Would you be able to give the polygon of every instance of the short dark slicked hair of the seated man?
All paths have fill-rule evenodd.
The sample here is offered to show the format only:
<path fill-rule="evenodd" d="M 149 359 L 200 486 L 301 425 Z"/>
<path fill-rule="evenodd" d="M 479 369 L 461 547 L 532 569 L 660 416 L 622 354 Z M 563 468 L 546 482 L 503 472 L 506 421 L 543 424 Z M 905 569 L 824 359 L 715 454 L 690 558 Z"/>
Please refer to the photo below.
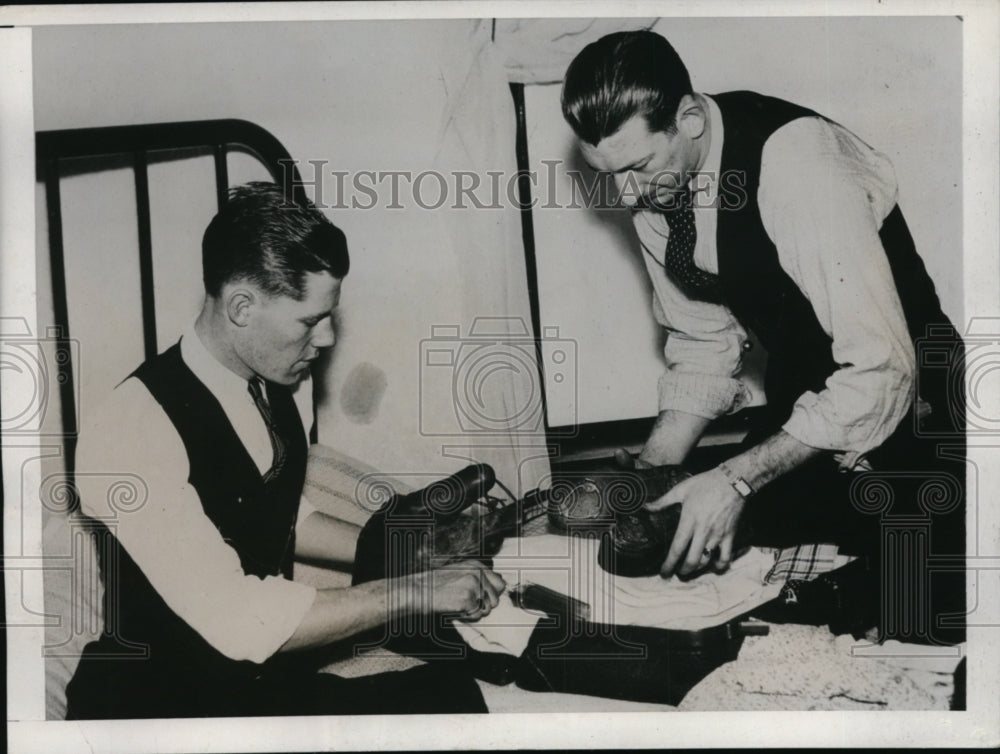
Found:
<path fill-rule="evenodd" d="M 308 199 L 292 201 L 274 183 L 229 190 L 201 242 L 205 292 L 218 296 L 232 280 L 247 280 L 271 296 L 305 295 L 307 272 L 347 275 L 343 232 Z"/>

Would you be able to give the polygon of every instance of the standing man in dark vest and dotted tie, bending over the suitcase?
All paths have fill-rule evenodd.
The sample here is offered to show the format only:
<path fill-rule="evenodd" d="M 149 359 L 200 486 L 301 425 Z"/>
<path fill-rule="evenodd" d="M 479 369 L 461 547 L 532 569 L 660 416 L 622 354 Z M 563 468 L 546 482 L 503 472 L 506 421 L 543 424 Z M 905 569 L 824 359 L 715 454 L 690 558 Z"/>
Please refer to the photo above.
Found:
<path fill-rule="evenodd" d="M 836 542 L 886 565 L 885 532 L 916 517 L 933 537 L 894 567 L 917 569 L 908 578 L 921 586 L 883 610 L 912 615 L 914 640 L 944 636 L 933 619 L 961 621 L 964 605 L 963 351 L 889 161 L 790 102 L 695 92 L 652 32 L 584 48 L 562 107 L 584 158 L 614 176 L 632 212 L 667 332 L 660 412 L 637 462 L 683 462 L 714 418 L 748 402 L 748 330 L 768 353 L 767 407 L 741 452 L 655 504 L 683 504 L 663 574 L 726 567 L 741 519 L 759 544 Z M 944 354 L 933 369 L 917 359 L 925 342 Z M 940 479 L 947 500 L 924 505 L 920 481 Z M 879 480 L 891 511 L 865 499 Z M 950 573 L 930 572 L 928 548 L 951 559 Z"/>

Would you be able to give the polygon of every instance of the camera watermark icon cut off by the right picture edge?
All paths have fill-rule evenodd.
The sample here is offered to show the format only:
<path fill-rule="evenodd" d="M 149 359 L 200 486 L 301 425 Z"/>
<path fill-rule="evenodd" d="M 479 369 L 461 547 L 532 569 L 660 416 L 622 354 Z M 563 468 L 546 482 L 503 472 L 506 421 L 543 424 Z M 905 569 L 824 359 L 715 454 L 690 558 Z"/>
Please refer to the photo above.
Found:
<path fill-rule="evenodd" d="M 914 345 L 917 395 L 931 409 L 915 414 L 916 434 L 963 437 L 967 422 L 970 436 L 1000 435 L 1000 318 L 973 317 L 962 338 L 932 325 Z"/>

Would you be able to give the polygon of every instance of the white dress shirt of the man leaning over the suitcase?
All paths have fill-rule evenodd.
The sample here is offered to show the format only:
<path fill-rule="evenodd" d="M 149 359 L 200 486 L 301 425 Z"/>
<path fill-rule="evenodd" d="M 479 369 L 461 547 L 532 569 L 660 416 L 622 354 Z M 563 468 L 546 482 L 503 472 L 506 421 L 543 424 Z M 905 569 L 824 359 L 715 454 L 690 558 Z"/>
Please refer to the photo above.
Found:
<path fill-rule="evenodd" d="M 695 195 L 694 262 L 718 273 L 725 135 L 718 105 L 705 99 L 711 143 L 692 180 L 692 190 L 704 192 Z M 889 160 L 823 118 L 794 120 L 765 144 L 758 193 L 764 228 L 782 268 L 833 339 L 839 365 L 823 390 L 798 399 L 784 429 L 811 447 L 846 451 L 846 465 L 884 442 L 913 400 L 913 344 L 878 236 L 896 194 Z M 725 306 L 688 298 L 650 258 L 662 261 L 666 249 L 670 231 L 662 214 L 636 212 L 633 223 L 648 252 L 643 258 L 653 283 L 654 316 L 668 331 L 660 410 L 706 418 L 739 410 L 751 398 L 739 379 L 746 331 Z"/>

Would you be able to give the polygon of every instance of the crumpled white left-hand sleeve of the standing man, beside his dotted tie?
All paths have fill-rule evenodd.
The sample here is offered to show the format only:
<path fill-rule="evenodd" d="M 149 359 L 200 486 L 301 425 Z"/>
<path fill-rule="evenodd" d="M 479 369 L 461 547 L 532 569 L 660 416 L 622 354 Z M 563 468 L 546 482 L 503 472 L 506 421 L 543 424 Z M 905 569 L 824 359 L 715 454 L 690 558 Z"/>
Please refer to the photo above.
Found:
<path fill-rule="evenodd" d="M 659 410 L 707 419 L 739 410 L 751 398 L 739 379 L 746 331 L 725 306 L 688 298 L 653 261 L 663 256 L 665 223 L 658 228 L 640 212 L 634 225 L 653 283 L 653 316 L 666 332 Z"/>

